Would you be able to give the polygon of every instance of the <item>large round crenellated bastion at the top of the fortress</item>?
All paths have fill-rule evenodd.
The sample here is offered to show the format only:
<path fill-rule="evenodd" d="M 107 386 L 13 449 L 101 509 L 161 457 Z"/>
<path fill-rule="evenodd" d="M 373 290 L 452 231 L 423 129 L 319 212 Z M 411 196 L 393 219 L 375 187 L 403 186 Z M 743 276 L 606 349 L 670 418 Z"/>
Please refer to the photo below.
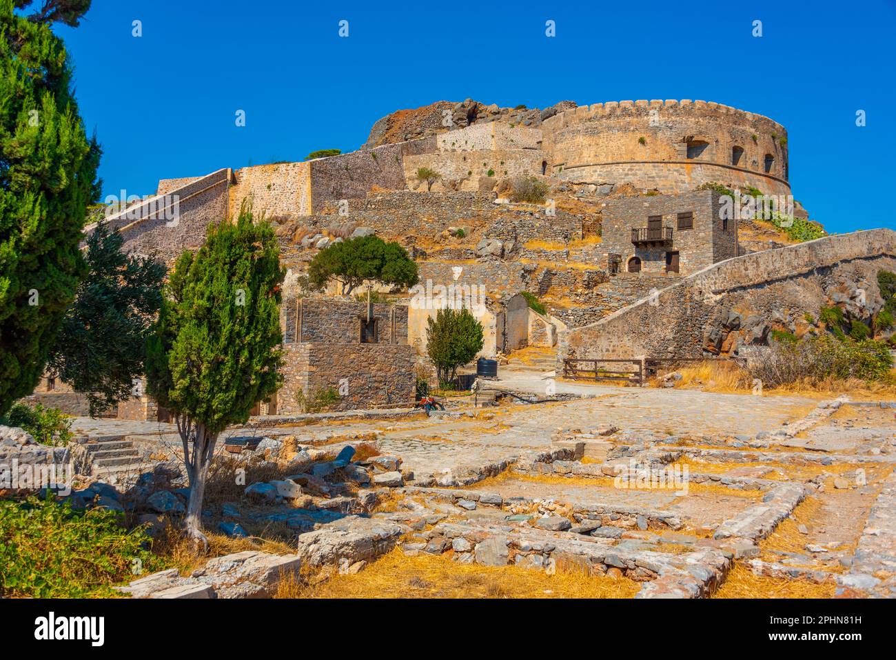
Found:
<path fill-rule="evenodd" d="M 652 126 L 651 126 L 652 124 Z M 664 177 L 664 169 L 645 167 L 653 162 L 690 161 L 732 165 L 732 148 L 744 153 L 737 169 L 728 169 L 728 177 L 744 185 L 757 185 L 762 192 L 771 187 L 787 187 L 787 131 L 777 122 L 718 103 L 691 100 L 646 100 L 597 103 L 566 110 L 547 118 L 541 125 L 543 148 L 550 156 L 550 165 L 561 178 L 593 182 L 616 182 L 616 178 L 636 183 L 643 176 L 642 187 L 659 187 L 664 192 L 693 187 L 705 180 L 719 181 L 721 169 L 704 168 L 691 171 L 676 168 Z M 774 137 L 772 137 L 774 135 Z M 755 140 L 754 140 L 755 136 Z M 644 143 L 639 143 L 639 138 Z M 784 138 L 784 143 L 781 143 Z M 695 159 L 687 158 L 687 140 L 708 143 Z M 775 184 L 763 177 L 765 154 L 771 154 Z M 620 169 L 620 164 L 632 167 Z M 662 166 L 668 167 L 668 166 Z M 693 167 L 693 166 L 691 166 Z M 562 168 L 562 169 L 561 169 Z M 607 169 L 608 168 L 608 169 Z"/>

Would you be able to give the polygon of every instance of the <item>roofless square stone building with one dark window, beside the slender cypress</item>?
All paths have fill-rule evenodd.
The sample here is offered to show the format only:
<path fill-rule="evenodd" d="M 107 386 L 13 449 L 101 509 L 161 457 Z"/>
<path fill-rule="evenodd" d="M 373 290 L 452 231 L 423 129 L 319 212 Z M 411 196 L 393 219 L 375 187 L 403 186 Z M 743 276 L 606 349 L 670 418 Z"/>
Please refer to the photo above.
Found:
<path fill-rule="evenodd" d="M 328 390 L 338 410 L 408 403 L 416 355 L 408 343 L 408 308 L 334 299 L 284 300 L 284 383 L 261 406 L 269 414 L 304 412 Z"/>

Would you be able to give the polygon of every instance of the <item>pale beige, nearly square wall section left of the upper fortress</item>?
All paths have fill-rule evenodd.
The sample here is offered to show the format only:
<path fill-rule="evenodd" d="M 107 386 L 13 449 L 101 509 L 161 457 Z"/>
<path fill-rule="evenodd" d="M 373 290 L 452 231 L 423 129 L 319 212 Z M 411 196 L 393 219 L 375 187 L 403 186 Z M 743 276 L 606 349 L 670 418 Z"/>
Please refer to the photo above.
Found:
<path fill-rule="evenodd" d="M 311 213 L 311 164 L 272 163 L 237 169 L 230 190 L 230 216 L 236 218 L 244 199 L 252 198 L 254 213 L 307 215 Z"/>

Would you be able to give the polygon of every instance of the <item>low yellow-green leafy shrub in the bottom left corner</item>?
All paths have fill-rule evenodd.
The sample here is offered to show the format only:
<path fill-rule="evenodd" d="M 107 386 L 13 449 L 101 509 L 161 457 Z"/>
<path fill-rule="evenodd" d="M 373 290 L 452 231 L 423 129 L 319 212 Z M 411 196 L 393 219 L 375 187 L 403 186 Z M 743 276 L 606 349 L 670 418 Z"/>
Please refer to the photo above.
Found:
<path fill-rule="evenodd" d="M 0 597 L 114 596 L 113 585 L 167 568 L 148 543 L 116 511 L 73 511 L 52 495 L 0 499 Z"/>

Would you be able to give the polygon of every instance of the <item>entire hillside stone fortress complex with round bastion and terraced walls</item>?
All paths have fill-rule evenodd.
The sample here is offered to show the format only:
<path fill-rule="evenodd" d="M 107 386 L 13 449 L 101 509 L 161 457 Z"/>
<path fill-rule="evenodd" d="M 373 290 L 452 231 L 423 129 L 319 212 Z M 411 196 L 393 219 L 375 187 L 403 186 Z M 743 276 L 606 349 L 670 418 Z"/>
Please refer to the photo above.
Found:
<path fill-rule="evenodd" d="M 419 177 L 421 169 L 435 177 Z M 513 188 L 521 178 L 546 183 L 547 200 L 514 202 Z M 256 216 L 263 213 L 275 226 L 288 283 L 332 242 L 375 233 L 408 248 L 421 285 L 485 288 L 486 304 L 476 310 L 486 331 L 484 356 L 539 346 L 556 349 L 562 367 L 564 357 L 631 358 L 643 355 L 645 346 L 656 351 L 658 342 L 645 335 L 657 323 L 675 335 L 674 324 L 653 317 L 654 325 L 646 327 L 612 321 L 614 333 L 626 334 L 622 339 L 607 339 L 601 324 L 697 274 L 705 280 L 708 271 L 728 264 L 727 277 L 737 282 L 737 273 L 744 273 L 757 291 L 780 279 L 781 260 L 798 246 L 788 247 L 790 241 L 771 225 L 722 218 L 719 192 L 708 184 L 789 195 L 785 128 L 768 117 L 702 100 L 590 106 L 563 101 L 542 110 L 439 101 L 383 117 L 355 152 L 163 179 L 155 197 L 108 221 L 122 231 L 126 249 L 170 264 L 181 250 L 202 243 L 210 222 L 236 217 L 244 200 L 251 200 Z M 799 204 L 794 214 L 807 217 Z M 893 265 L 892 232 L 853 236 L 858 238 L 847 242 L 821 239 L 827 241 L 823 249 L 812 254 L 823 261 L 793 272 L 793 277 L 822 278 L 814 282 L 805 309 L 798 295 L 789 296 L 787 309 L 754 305 L 749 295 L 732 309 L 721 300 L 724 294 L 713 298 L 697 291 L 690 297 L 709 302 L 682 321 L 686 341 L 668 345 L 681 346 L 688 356 L 737 352 L 764 342 L 773 324 L 763 321 L 758 335 L 735 332 L 728 339 L 733 329 L 721 326 L 732 312 L 750 317 L 753 307 L 762 307 L 763 314 L 777 313 L 781 327 L 797 330 L 805 312 L 817 312 L 819 301 L 835 289 L 849 299 L 857 282 L 872 292 L 867 304 L 876 304 L 871 273 L 883 262 Z M 839 269 L 841 247 L 849 269 Z M 769 248 L 785 255 L 762 256 Z M 853 263 L 865 258 L 859 253 L 874 265 Z M 824 267 L 832 270 L 822 273 Z M 523 291 L 537 297 L 547 313 L 529 308 Z M 409 304 L 408 292 L 381 293 L 395 304 L 377 312 L 382 318 L 376 327 L 367 326 L 373 322 L 366 305 L 350 298 L 333 313 L 347 314 L 351 323 L 325 339 L 297 331 L 309 323 L 303 314 L 314 308 L 314 300 L 299 300 L 300 291 L 285 288 L 283 324 L 292 328 L 286 333 L 289 395 L 263 402 L 268 412 L 297 412 L 298 390 L 310 395 L 314 386 L 336 386 L 345 378 L 349 391 L 360 393 L 346 405 L 409 400 L 411 367 L 415 360 L 425 362 L 426 318 L 435 309 Z M 314 315 L 329 308 L 336 309 L 318 306 Z M 398 322 L 395 308 L 401 308 Z M 396 323 L 400 332 L 389 330 L 384 337 Z M 362 353 L 363 368 L 351 367 Z M 332 355 L 341 366 L 328 358 Z M 395 365 L 402 366 L 401 378 Z M 392 376 L 375 376 L 382 373 Z"/>

